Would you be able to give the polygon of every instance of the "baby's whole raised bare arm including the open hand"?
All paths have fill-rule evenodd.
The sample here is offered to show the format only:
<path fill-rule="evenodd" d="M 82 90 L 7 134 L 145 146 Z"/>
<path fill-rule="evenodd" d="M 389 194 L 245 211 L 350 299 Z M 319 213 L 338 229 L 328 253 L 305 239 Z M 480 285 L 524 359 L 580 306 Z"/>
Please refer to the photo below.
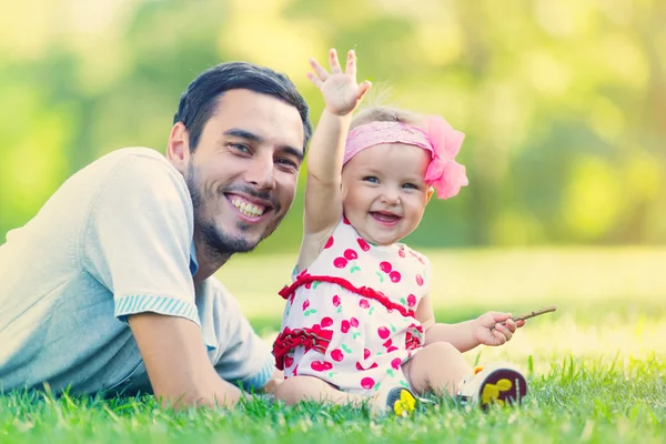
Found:
<path fill-rule="evenodd" d="M 352 112 L 370 88 L 367 81 L 356 83 L 354 51 L 347 54 L 345 72 L 342 72 L 333 49 L 329 52 L 329 62 L 330 73 L 312 59 L 310 63 L 315 73 L 307 74 L 312 83 L 322 91 L 326 107 L 307 154 L 305 215 L 299 270 L 307 268 L 314 261 L 331 230 L 342 218 L 340 188 L 345 138 Z"/>

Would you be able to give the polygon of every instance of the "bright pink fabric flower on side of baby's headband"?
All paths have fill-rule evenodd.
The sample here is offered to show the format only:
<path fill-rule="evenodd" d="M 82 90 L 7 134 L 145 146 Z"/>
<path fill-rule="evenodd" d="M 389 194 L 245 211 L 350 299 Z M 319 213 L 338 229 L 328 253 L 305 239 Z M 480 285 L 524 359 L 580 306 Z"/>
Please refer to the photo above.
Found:
<path fill-rule="evenodd" d="M 437 190 L 437 199 L 453 198 L 470 183 L 465 167 L 455 161 L 465 134 L 440 115 L 428 117 L 426 124 L 433 158 L 425 171 L 425 181 Z"/>

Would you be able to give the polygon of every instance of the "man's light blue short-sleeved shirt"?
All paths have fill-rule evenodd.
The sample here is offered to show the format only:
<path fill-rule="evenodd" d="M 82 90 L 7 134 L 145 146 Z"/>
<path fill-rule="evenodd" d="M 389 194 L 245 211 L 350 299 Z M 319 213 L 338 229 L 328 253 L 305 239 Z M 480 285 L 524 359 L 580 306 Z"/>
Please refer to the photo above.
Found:
<path fill-rule="evenodd" d="M 0 392 L 151 392 L 127 316 L 200 325 L 221 377 L 262 387 L 270 346 L 215 279 L 193 284 L 193 208 L 157 151 L 128 148 L 72 175 L 0 246 Z"/>

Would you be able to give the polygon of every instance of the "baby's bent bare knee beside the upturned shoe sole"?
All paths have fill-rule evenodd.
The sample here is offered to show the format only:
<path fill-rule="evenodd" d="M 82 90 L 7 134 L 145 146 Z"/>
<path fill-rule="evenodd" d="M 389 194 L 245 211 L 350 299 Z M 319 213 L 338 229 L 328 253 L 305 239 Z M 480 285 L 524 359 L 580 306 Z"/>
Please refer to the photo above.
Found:
<path fill-rule="evenodd" d="M 416 393 L 434 392 L 455 395 L 458 384 L 473 373 L 463 354 L 447 342 L 433 342 L 418 351 L 403 366 Z"/>

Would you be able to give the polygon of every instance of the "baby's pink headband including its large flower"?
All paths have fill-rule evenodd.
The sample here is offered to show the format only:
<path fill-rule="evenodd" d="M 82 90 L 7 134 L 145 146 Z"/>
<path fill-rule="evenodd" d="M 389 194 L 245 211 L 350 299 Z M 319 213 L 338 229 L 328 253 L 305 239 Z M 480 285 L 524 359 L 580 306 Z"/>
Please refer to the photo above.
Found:
<path fill-rule="evenodd" d="M 437 190 L 437 199 L 453 198 L 468 184 L 465 167 L 454 159 L 465 134 L 454 130 L 440 115 L 430 115 L 427 130 L 401 122 L 371 122 L 354 128 L 346 139 L 343 164 L 366 148 L 381 143 L 404 143 L 431 152 L 425 182 Z"/>

